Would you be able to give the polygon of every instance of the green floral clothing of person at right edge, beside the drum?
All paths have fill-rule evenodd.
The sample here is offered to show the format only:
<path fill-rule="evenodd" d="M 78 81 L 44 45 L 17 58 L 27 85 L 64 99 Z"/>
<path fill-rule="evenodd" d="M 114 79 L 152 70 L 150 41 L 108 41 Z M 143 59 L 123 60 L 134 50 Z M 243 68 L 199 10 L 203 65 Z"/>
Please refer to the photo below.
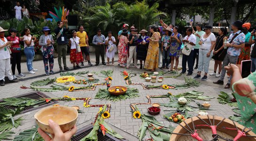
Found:
<path fill-rule="evenodd" d="M 256 86 L 256 72 L 251 73 L 247 78 Z M 241 110 L 239 124 L 252 129 L 252 132 L 256 133 L 256 104 L 252 102 L 250 98 L 237 94 L 234 90 L 234 85 L 232 86 L 232 90 L 235 94 L 238 107 Z M 254 90 L 254 92 L 256 92 L 256 90 Z"/>

